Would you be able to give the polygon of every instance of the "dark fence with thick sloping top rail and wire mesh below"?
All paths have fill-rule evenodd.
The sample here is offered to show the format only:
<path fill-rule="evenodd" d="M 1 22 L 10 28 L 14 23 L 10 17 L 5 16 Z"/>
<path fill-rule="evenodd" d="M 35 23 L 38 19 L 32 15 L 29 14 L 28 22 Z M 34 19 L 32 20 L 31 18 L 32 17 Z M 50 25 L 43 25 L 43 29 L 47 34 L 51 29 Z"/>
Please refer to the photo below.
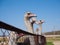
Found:
<path fill-rule="evenodd" d="M 30 45 L 31 36 L 34 37 L 35 45 L 46 45 L 44 36 L 23 31 L 0 21 L 0 45 Z M 39 37 L 41 43 L 39 43 Z"/>

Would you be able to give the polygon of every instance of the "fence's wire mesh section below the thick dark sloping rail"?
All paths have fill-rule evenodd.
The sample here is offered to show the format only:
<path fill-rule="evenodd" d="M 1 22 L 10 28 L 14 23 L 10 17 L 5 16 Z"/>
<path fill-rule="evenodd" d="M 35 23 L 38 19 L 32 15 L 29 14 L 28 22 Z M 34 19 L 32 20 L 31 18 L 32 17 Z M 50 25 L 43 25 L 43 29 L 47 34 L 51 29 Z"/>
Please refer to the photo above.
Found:
<path fill-rule="evenodd" d="M 29 37 L 31 37 L 31 35 L 23 35 L 23 33 L 17 34 L 17 32 L 0 28 L 0 45 L 30 45 Z M 38 36 L 33 37 L 36 45 L 45 45 L 45 37 L 41 37 L 43 44 L 38 43 Z"/>

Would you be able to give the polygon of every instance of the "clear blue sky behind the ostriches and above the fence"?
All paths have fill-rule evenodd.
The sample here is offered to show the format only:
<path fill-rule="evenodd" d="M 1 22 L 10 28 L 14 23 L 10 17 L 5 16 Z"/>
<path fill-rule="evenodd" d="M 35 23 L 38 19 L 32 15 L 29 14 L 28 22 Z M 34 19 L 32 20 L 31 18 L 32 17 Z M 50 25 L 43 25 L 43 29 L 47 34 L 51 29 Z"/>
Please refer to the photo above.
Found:
<path fill-rule="evenodd" d="M 0 0 L 0 21 L 25 31 L 24 14 L 28 11 L 44 20 L 42 32 L 60 30 L 60 0 Z"/>

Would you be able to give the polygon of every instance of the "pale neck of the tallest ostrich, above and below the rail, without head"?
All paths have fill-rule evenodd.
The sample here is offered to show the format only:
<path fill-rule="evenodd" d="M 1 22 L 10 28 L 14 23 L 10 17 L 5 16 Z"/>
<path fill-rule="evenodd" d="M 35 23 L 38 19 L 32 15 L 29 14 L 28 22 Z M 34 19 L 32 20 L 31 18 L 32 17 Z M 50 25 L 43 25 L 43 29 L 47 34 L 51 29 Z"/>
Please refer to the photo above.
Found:
<path fill-rule="evenodd" d="M 33 26 L 32 26 L 32 24 L 30 22 L 30 19 L 27 18 L 27 17 L 24 17 L 24 22 L 25 22 L 27 31 L 30 32 L 30 33 L 34 33 L 33 32 Z M 29 36 L 29 40 L 30 40 L 30 45 L 35 45 L 35 41 L 34 41 L 34 37 L 33 36 Z"/>

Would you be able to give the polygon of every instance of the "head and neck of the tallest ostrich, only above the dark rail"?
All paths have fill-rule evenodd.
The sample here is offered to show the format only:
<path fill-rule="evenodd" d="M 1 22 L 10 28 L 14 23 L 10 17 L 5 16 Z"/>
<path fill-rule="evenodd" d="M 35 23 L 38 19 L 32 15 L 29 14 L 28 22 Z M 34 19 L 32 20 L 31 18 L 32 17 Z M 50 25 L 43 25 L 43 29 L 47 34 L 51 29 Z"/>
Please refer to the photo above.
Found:
<path fill-rule="evenodd" d="M 34 21 L 32 21 L 32 22 L 30 21 L 30 19 L 32 17 L 36 17 L 36 15 L 34 15 L 30 12 L 27 12 L 24 16 L 25 25 L 27 27 L 28 32 L 30 32 L 30 33 L 33 33 L 33 23 L 34 23 Z"/>

